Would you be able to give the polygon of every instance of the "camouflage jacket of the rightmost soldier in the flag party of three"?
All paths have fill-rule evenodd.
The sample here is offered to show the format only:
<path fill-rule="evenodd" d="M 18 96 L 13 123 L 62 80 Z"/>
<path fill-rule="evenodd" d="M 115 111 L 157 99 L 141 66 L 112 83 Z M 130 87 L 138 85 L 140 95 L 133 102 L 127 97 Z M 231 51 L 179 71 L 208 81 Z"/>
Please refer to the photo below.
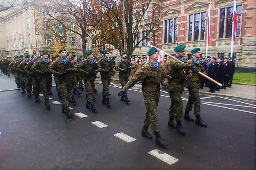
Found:
<path fill-rule="evenodd" d="M 201 63 L 197 63 L 195 60 L 192 58 L 188 61 L 188 63 L 195 65 L 195 67 L 198 68 L 199 72 L 202 72 L 206 74 L 204 67 Z M 192 70 L 189 68 L 187 69 L 187 76 L 190 77 L 190 81 L 186 82 L 186 87 L 187 88 L 200 88 L 200 75 L 199 73 L 194 73 Z"/>

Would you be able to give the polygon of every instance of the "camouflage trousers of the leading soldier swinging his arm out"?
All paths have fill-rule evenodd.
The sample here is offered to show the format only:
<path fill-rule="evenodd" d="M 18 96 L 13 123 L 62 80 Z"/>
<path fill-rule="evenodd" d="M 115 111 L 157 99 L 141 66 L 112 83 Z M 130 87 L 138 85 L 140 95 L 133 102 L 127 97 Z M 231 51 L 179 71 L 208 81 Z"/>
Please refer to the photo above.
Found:
<path fill-rule="evenodd" d="M 159 103 L 158 98 L 148 98 L 144 96 L 144 103 L 147 109 L 144 125 L 149 126 L 151 125 L 151 128 L 153 132 L 159 131 L 159 125 L 158 125 L 158 113 L 157 113 L 157 106 Z"/>

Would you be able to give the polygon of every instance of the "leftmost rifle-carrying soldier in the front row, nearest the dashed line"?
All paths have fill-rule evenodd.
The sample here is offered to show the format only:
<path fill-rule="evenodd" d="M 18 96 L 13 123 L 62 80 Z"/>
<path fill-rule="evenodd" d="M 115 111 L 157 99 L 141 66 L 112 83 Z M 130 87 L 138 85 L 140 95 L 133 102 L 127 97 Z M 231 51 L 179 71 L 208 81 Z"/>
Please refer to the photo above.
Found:
<path fill-rule="evenodd" d="M 57 75 L 56 79 L 59 84 L 59 92 L 62 96 L 62 113 L 66 113 L 68 118 L 73 118 L 74 115 L 69 109 L 68 95 L 72 90 L 70 75 L 73 71 L 77 71 L 77 68 L 74 63 L 68 63 L 67 51 L 65 48 L 61 48 L 61 50 L 59 50 L 59 55 L 60 58 L 50 65 L 49 71 L 52 74 Z M 83 71 L 82 73 L 86 72 Z"/>

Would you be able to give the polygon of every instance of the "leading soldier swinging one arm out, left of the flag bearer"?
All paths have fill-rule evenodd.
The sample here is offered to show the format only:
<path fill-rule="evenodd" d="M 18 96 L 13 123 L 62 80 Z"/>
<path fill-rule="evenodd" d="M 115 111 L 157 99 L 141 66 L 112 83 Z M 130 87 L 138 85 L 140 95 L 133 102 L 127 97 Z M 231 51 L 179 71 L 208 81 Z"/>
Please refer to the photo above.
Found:
<path fill-rule="evenodd" d="M 168 79 L 163 67 L 157 62 L 158 53 L 155 47 L 148 50 L 148 56 L 150 62 L 143 65 L 135 75 L 131 77 L 129 82 L 123 87 L 123 90 L 118 93 L 118 96 L 125 95 L 128 88 L 133 87 L 135 83 L 143 80 L 142 94 L 147 112 L 141 135 L 152 139 L 152 135 L 148 133 L 148 126 L 151 125 L 153 133 L 156 136 L 157 145 L 165 147 L 167 146 L 167 143 L 163 141 L 159 133 L 157 106 L 160 98 L 160 83 L 166 88 Z"/>

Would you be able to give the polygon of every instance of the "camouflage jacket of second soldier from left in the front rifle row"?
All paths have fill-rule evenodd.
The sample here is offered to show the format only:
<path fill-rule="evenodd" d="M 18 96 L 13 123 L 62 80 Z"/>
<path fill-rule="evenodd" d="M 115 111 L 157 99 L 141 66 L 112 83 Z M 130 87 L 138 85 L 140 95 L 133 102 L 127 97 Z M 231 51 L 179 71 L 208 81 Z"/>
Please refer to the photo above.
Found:
<path fill-rule="evenodd" d="M 86 71 L 86 73 L 88 73 L 95 64 L 95 60 L 93 61 L 93 63 L 91 63 L 89 59 L 86 58 L 77 67 L 81 68 L 82 70 Z M 103 71 L 103 69 L 98 64 L 95 71 L 98 73 Z M 95 75 L 84 75 L 84 78 L 86 78 L 86 80 L 88 81 L 94 81 Z"/>

